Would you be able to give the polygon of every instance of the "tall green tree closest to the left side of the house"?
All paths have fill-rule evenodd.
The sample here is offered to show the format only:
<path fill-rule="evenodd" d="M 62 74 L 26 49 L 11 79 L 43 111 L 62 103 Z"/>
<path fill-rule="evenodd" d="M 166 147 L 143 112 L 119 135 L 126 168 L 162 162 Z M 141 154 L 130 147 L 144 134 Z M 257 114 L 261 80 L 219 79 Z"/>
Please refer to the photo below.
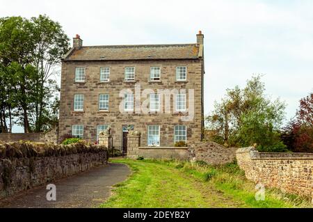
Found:
<path fill-rule="evenodd" d="M 47 122 L 55 116 L 49 116 L 52 104 L 56 102 L 58 86 L 51 76 L 59 72 L 61 58 L 69 50 L 69 38 L 58 22 L 54 22 L 46 15 L 32 17 L 33 65 L 37 70 L 35 81 L 35 132 L 47 130 Z"/>

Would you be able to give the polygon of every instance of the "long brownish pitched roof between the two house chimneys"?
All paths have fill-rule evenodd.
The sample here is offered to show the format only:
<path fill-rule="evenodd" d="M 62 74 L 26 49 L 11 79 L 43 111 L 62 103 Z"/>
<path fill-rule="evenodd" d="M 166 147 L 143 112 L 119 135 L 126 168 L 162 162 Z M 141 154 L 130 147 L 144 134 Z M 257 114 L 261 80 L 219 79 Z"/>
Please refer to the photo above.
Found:
<path fill-rule="evenodd" d="M 65 61 L 127 61 L 154 59 L 198 59 L 202 45 L 105 45 L 71 49 Z"/>

